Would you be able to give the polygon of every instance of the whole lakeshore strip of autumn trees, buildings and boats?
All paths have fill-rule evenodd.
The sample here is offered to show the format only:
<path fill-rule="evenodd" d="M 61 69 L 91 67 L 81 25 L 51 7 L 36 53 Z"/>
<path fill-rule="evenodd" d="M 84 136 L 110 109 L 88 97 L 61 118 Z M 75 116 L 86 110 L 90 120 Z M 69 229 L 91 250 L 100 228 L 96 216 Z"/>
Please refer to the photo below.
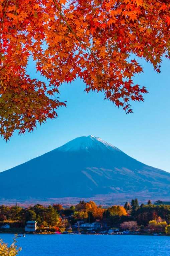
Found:
<path fill-rule="evenodd" d="M 28 208 L 0 206 L 0 233 L 170 235 L 170 202 L 150 200 L 139 205 L 137 198 L 124 206 L 97 206 L 80 201 L 63 208 L 61 204 Z M 21 235 L 22 234 L 22 235 Z"/>

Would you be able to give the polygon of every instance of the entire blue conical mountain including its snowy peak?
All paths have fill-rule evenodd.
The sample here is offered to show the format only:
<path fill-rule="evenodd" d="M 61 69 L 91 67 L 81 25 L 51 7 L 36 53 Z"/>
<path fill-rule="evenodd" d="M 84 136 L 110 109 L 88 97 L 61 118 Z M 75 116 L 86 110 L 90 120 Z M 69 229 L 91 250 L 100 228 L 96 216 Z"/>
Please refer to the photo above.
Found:
<path fill-rule="evenodd" d="M 136 161 L 94 136 L 76 138 L 0 173 L 0 198 L 6 199 L 94 195 L 166 199 L 169 192 L 170 173 Z"/>

